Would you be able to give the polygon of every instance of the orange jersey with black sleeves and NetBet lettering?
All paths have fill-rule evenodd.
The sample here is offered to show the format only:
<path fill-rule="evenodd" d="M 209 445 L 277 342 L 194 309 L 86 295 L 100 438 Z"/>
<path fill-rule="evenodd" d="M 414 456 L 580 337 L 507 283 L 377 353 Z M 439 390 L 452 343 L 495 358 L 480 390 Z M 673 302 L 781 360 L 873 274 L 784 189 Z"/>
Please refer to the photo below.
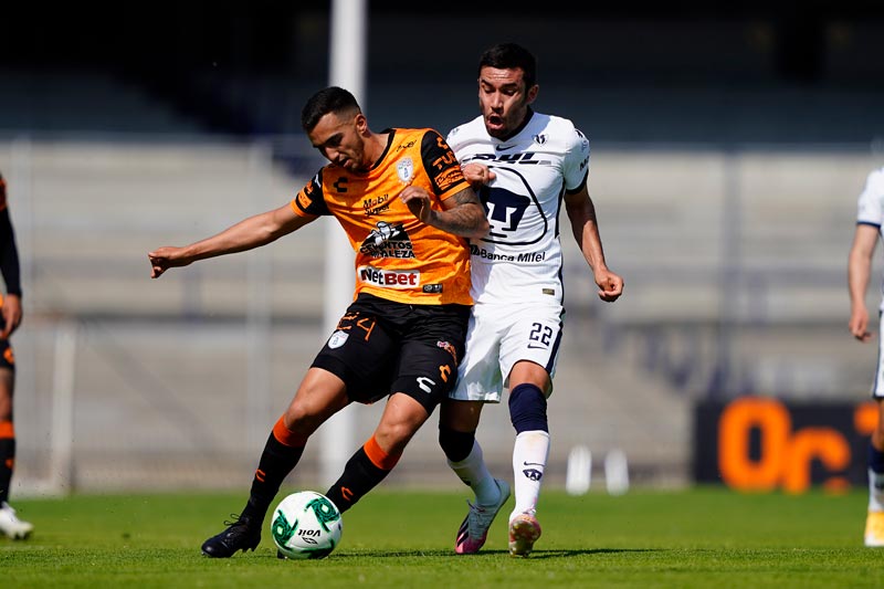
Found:
<path fill-rule="evenodd" d="M 432 129 L 387 129 L 367 173 L 330 164 L 292 200 L 302 217 L 334 214 L 356 252 L 356 293 L 409 304 L 472 305 L 466 240 L 419 221 L 399 200 L 410 180 L 434 210 L 469 188 L 445 140 Z"/>

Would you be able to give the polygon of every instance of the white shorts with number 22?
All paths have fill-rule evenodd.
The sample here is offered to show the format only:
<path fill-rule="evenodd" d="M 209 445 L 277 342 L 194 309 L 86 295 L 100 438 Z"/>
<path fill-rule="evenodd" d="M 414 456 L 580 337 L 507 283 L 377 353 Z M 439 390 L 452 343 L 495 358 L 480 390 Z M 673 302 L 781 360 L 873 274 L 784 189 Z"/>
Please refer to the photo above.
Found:
<path fill-rule="evenodd" d="M 546 368 L 550 382 L 561 344 L 561 305 L 475 305 L 466 332 L 466 355 L 449 398 L 501 402 L 509 371 L 520 360 Z"/>

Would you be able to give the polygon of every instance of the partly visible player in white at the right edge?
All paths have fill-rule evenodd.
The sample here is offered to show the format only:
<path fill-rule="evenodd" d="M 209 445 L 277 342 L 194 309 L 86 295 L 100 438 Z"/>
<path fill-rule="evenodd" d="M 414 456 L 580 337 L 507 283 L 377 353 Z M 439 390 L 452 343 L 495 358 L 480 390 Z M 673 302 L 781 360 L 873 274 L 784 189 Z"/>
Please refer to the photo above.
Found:
<path fill-rule="evenodd" d="M 884 168 L 869 175 L 865 189 L 860 193 L 856 231 L 848 259 L 848 287 L 850 290 L 850 332 L 857 340 L 872 340 L 869 330 L 869 309 L 865 293 L 872 274 L 872 256 L 884 225 Z M 884 311 L 882 301 L 878 313 Z M 884 546 L 884 346 L 878 345 L 877 370 L 872 385 L 872 397 L 877 401 L 878 419 L 869 444 L 869 514 L 865 519 L 865 545 Z"/>

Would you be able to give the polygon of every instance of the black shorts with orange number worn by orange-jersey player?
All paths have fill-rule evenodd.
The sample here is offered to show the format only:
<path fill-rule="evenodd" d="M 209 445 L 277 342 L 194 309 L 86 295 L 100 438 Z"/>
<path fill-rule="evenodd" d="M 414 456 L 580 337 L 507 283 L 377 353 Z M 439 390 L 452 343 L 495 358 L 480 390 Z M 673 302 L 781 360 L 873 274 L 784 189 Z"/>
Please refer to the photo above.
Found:
<path fill-rule="evenodd" d="M 403 392 L 432 413 L 457 380 L 469 318 L 467 305 L 408 305 L 360 294 L 312 366 L 340 377 L 351 401 Z"/>

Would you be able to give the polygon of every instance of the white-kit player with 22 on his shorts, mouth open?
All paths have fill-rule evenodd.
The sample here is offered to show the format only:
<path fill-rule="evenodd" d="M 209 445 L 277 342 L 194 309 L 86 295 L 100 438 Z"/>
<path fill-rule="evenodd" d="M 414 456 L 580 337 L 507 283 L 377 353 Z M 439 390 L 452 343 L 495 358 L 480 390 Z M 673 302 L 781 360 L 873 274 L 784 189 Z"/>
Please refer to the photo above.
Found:
<path fill-rule="evenodd" d="M 499 402 L 504 387 L 516 430 L 509 553 L 527 556 L 540 537 L 536 508 L 549 453 L 546 403 L 564 316 L 562 201 L 601 299 L 615 301 L 623 291 L 623 280 L 606 265 L 587 189 L 589 141 L 570 120 L 532 109 L 538 90 L 530 52 L 512 43 L 491 48 L 478 64 L 481 116 L 448 136 L 491 224 L 485 238 L 471 240 L 475 303 L 466 356 L 439 425 L 449 465 L 475 493 L 457 532 L 457 554 L 478 551 L 509 497 L 508 484 L 490 474 L 475 440 L 484 403 Z"/>

